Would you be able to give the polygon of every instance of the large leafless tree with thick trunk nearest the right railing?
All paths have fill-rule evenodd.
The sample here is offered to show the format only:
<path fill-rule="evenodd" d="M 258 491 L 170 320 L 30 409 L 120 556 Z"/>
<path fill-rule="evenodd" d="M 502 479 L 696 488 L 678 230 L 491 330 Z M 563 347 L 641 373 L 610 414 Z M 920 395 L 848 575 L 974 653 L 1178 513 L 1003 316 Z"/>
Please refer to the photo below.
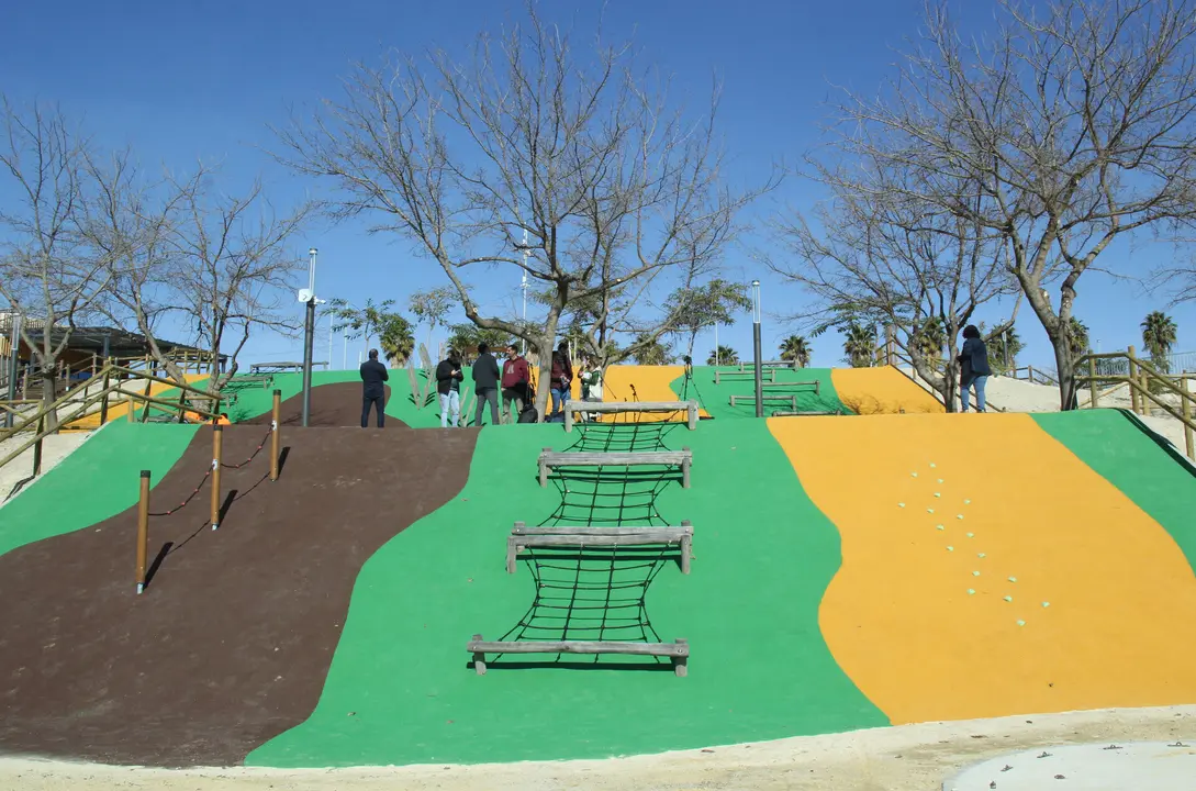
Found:
<path fill-rule="evenodd" d="M 1196 218 L 1194 37 L 1196 14 L 1173 0 L 1001 0 L 981 39 L 930 5 L 881 95 L 847 92 L 841 105 L 843 147 L 909 171 L 911 197 L 1008 238 L 1064 409 L 1080 276 L 1116 238 Z"/>

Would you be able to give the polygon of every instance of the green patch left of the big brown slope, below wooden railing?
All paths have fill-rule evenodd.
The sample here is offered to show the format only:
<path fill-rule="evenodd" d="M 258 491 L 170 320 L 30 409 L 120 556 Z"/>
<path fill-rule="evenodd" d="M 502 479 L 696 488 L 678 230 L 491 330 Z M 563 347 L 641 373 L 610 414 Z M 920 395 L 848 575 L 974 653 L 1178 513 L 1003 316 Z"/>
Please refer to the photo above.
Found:
<path fill-rule="evenodd" d="M 199 426 L 114 422 L 0 509 L 0 555 L 81 530 L 138 501 L 140 471 L 160 481 Z M 132 529 L 132 525 L 130 525 Z"/>

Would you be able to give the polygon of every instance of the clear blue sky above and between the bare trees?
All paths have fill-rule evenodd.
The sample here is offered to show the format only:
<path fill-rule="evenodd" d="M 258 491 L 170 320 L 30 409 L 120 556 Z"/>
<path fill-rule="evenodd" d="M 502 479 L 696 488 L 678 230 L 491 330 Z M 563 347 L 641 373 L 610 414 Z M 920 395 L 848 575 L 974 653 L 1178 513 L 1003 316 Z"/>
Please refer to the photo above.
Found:
<path fill-rule="evenodd" d="M 593 30 L 599 7 L 541 2 L 545 18 L 573 23 L 579 35 Z M 983 1 L 964 7 L 970 24 L 983 24 L 991 13 Z M 273 201 L 286 206 L 319 189 L 263 151 L 273 145 L 268 124 L 283 122 L 288 107 L 335 96 L 354 61 L 376 61 L 390 48 L 460 51 L 477 31 L 517 20 L 523 8 L 519 0 L 13 2 L 4 13 L 0 91 L 18 102 L 60 103 L 102 144 L 132 145 L 146 166 L 185 170 L 197 159 L 222 162 L 228 189 L 261 175 Z M 920 8 L 921 0 L 610 0 L 604 29 L 610 38 L 634 34 L 643 56 L 672 74 L 676 87 L 696 103 L 706 97 L 712 75 L 724 80 L 720 121 L 732 159 L 728 176 L 750 183 L 767 175 L 773 162 L 795 163 L 818 145 L 832 84 L 868 90 L 880 83 L 895 61 L 893 48 L 916 32 Z M 817 195 L 811 183 L 789 180 L 752 209 L 751 219 L 762 221 L 786 206 L 808 208 Z M 439 270 L 414 258 L 405 239 L 367 236 L 365 225 L 319 224 L 297 241 L 297 252 L 311 245 L 321 250 L 321 296 L 405 304 L 411 292 L 443 285 Z M 786 312 L 801 296 L 753 263 L 751 249 L 761 244 L 762 238 L 746 238 L 730 250 L 728 276 L 758 276 L 765 312 Z M 1145 274 L 1165 255 L 1171 251 L 1160 245 L 1131 250 L 1118 243 L 1103 261 Z M 511 273 L 509 280 L 494 282 L 495 302 L 515 298 L 518 275 Z M 1094 345 L 1109 351 L 1141 346 L 1142 316 L 1165 302 L 1131 282 L 1088 273 L 1080 281 L 1076 314 L 1091 328 Z M 297 315 L 300 310 L 295 305 Z M 1196 347 L 1196 306 L 1168 312 L 1179 324 L 1177 351 Z M 1000 314 L 982 317 L 994 321 Z M 720 342 L 750 354 L 749 322 L 745 316 L 724 328 Z M 1023 364 L 1049 365 L 1050 347 L 1037 321 L 1023 312 L 1018 328 L 1027 342 Z M 765 354 L 788 331 L 765 316 Z M 696 354 L 704 358 L 712 342 L 709 335 L 700 339 Z M 840 342 L 837 335 L 814 341 L 814 364 L 838 364 Z M 338 366 L 338 337 L 332 347 Z M 242 359 L 299 359 L 299 348 L 298 341 L 261 336 Z M 325 323 L 316 357 L 327 354 Z M 355 361 L 354 349 L 349 363 Z"/>

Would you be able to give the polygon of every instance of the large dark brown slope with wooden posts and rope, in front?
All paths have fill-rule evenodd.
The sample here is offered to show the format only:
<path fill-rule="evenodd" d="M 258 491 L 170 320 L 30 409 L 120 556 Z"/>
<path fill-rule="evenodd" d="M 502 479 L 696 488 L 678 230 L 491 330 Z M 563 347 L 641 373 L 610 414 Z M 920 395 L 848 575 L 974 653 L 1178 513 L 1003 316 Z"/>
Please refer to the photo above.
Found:
<path fill-rule="evenodd" d="M 246 458 L 261 426 L 225 428 Z M 0 750 L 152 766 L 237 763 L 313 710 L 361 565 L 465 483 L 477 433 L 292 428 L 225 470 L 218 531 L 205 488 L 151 521 L 172 544 L 140 597 L 135 510 L 0 556 Z M 153 491 L 178 505 L 210 464 L 203 428 Z M 268 445 L 267 445 L 268 448 Z M 264 477 L 264 480 L 263 480 Z"/>

